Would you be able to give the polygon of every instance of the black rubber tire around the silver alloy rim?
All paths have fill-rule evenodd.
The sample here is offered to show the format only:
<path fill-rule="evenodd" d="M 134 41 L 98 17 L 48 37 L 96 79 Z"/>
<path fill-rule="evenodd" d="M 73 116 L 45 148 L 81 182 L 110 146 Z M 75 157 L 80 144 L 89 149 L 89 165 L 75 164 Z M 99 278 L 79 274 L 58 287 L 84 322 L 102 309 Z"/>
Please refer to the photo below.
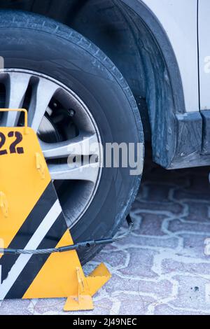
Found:
<path fill-rule="evenodd" d="M 1 10 L 0 55 L 5 68 L 44 73 L 76 92 L 90 109 L 102 144 L 144 142 L 130 87 L 111 60 L 76 31 L 41 15 Z M 141 176 L 130 176 L 130 168 L 104 168 L 92 204 L 71 228 L 74 241 L 113 236 L 130 212 L 140 181 Z M 81 251 L 80 260 L 87 262 L 100 248 Z"/>

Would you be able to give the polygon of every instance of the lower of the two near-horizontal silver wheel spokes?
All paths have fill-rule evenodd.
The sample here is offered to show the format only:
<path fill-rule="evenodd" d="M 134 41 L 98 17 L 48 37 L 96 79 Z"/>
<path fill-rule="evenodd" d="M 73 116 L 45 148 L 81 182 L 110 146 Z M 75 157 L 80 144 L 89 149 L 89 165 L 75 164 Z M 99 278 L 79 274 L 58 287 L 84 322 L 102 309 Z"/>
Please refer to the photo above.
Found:
<path fill-rule="evenodd" d="M 48 165 L 53 180 L 97 181 L 99 163 L 83 164 L 74 162 L 72 165 Z"/>

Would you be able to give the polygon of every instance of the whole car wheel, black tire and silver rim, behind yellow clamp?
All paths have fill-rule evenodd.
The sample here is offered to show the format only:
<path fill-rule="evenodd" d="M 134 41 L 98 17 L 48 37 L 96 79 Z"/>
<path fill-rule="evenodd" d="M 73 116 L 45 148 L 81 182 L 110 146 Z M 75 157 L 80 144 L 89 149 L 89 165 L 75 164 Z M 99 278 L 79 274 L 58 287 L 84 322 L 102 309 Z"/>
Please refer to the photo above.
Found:
<path fill-rule="evenodd" d="M 138 148 L 144 141 L 130 88 L 96 45 L 54 20 L 2 10 L 0 29 L 0 105 L 27 109 L 74 241 L 113 236 L 130 211 L 141 172 L 132 176 L 130 167 L 99 163 L 106 144 Z M 3 125 L 22 125 L 22 116 L 3 113 Z M 90 154 L 86 144 L 99 147 Z M 87 262 L 99 248 L 80 251 L 80 259 Z"/>

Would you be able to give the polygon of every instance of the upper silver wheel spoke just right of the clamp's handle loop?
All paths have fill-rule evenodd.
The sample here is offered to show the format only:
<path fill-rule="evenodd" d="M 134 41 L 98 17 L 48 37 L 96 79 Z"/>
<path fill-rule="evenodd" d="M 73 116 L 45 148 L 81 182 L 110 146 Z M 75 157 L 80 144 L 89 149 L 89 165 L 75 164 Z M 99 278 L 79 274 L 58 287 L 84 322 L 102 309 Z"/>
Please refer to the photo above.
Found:
<path fill-rule="evenodd" d="M 35 132 L 38 131 L 50 100 L 58 89 L 59 87 L 55 83 L 48 80 L 38 80 L 38 83 L 34 85 L 29 106 L 29 125 Z"/>

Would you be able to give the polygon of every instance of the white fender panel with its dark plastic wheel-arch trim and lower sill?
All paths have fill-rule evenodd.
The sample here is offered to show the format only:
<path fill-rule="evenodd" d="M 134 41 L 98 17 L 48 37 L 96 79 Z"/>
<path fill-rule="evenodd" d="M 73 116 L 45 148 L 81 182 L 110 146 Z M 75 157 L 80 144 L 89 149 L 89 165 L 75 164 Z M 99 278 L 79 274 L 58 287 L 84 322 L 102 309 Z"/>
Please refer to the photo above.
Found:
<path fill-rule="evenodd" d="M 161 109 L 153 106 L 148 109 L 158 118 L 155 126 L 151 125 L 154 162 L 166 169 L 209 165 L 207 132 L 210 120 L 206 118 L 204 122 L 200 112 L 198 1 L 122 1 L 139 15 L 153 34 L 169 74 L 172 93 L 167 93 Z M 172 99 L 171 104 L 167 104 L 167 99 Z M 163 132 L 161 138 L 160 132 Z"/>

